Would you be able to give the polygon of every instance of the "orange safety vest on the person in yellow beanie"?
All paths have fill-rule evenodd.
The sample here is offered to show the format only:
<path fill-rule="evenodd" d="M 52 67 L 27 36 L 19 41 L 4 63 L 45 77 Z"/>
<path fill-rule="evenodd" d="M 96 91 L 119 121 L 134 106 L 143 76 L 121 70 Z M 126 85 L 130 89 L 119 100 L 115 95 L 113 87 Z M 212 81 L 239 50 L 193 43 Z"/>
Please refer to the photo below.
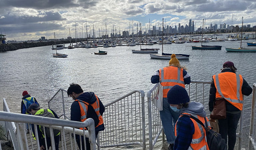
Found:
<path fill-rule="evenodd" d="M 167 97 L 168 91 L 174 86 L 179 85 L 185 88 L 183 79 L 183 69 L 168 66 L 159 69 L 160 83 L 163 86 L 163 98 Z"/>

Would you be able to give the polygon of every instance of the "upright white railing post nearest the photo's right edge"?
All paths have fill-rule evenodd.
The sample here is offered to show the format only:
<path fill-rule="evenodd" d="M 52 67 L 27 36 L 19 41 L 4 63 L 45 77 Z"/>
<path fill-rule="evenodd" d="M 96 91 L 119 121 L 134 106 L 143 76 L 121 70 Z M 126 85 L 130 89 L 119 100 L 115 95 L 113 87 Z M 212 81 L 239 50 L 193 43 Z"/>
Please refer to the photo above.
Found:
<path fill-rule="evenodd" d="M 253 84 L 252 92 L 252 108 L 251 108 L 251 122 L 250 122 L 250 132 L 249 132 L 249 150 L 252 149 L 253 144 L 251 143 L 250 137 L 254 135 L 254 117 L 255 117 L 255 101 L 256 101 L 256 83 Z"/>

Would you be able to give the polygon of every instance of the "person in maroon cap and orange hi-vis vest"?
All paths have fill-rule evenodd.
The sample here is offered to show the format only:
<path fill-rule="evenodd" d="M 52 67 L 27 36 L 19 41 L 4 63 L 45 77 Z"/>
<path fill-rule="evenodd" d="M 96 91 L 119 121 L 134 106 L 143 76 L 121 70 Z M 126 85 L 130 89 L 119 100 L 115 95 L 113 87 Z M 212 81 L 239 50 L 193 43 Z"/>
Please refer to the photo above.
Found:
<path fill-rule="evenodd" d="M 227 143 L 228 150 L 233 150 L 236 143 L 236 129 L 243 109 L 243 95 L 249 96 L 252 88 L 242 75 L 236 74 L 236 67 L 231 61 L 223 64 L 219 74 L 212 76 L 209 95 L 209 111 L 213 110 L 216 99 L 226 100 L 226 119 L 219 119 L 219 133 Z"/>

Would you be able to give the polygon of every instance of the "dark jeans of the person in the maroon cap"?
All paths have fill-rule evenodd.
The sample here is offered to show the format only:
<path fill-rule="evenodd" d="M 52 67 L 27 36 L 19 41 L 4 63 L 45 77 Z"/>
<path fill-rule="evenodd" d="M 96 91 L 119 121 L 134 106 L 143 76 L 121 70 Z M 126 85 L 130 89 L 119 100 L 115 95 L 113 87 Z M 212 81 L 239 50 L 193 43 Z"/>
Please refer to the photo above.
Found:
<path fill-rule="evenodd" d="M 227 143 L 228 136 L 228 150 L 233 150 L 236 144 L 236 129 L 240 119 L 241 112 L 237 114 L 227 113 L 226 119 L 219 120 L 220 134 Z"/>

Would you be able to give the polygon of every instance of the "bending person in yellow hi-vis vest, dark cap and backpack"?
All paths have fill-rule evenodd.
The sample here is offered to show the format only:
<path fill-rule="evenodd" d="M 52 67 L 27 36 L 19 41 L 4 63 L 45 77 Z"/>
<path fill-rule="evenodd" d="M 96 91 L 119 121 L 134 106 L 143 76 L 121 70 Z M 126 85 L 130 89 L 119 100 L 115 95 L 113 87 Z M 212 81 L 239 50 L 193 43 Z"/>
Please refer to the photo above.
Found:
<path fill-rule="evenodd" d="M 29 106 L 28 111 L 31 113 L 31 115 L 59 119 L 58 115 L 53 110 L 41 109 L 41 107 L 39 107 L 35 103 L 31 104 Z M 46 149 L 45 138 L 46 138 L 46 143 L 47 143 L 47 149 L 52 147 L 51 137 L 50 137 L 50 129 L 48 127 L 45 127 L 45 135 L 44 135 L 43 128 L 44 128 L 43 126 L 37 125 L 37 133 L 38 133 L 40 150 Z M 32 124 L 32 131 L 33 131 L 33 138 L 36 140 L 34 124 Z M 55 149 L 58 150 L 59 149 L 59 140 L 60 140 L 60 130 L 53 129 L 53 135 L 54 135 L 54 146 L 55 146 Z"/>

